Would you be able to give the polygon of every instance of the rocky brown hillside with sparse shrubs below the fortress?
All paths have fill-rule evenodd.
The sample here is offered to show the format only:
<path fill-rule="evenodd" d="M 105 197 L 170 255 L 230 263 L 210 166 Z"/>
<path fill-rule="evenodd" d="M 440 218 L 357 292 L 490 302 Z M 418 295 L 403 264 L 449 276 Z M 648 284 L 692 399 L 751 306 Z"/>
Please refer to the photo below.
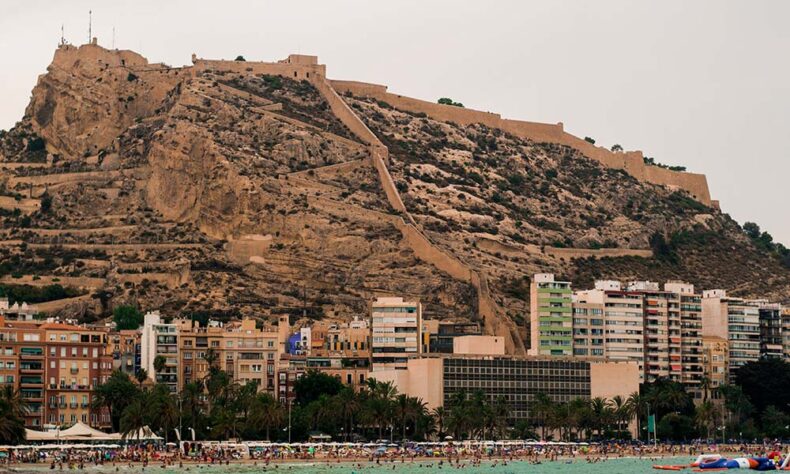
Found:
<path fill-rule="evenodd" d="M 522 330 L 539 271 L 578 286 L 679 277 L 790 295 L 776 258 L 683 192 L 566 146 L 343 99 L 389 148 L 417 226 L 487 274 Z M 304 80 L 61 48 L 0 137 L 0 216 L 5 271 L 82 278 L 95 315 L 135 300 L 166 314 L 350 318 L 399 294 L 429 317 L 479 318 L 475 288 L 404 242 L 369 148 Z"/>

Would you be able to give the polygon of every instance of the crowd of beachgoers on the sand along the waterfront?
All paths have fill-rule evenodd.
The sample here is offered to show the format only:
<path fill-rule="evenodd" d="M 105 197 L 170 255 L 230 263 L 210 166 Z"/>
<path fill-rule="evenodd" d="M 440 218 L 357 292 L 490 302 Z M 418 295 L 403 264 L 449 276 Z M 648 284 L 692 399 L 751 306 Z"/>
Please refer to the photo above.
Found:
<path fill-rule="evenodd" d="M 506 442 L 444 442 L 444 443 L 183 443 L 102 446 L 96 448 L 29 446 L 22 449 L 6 448 L 0 458 L 5 464 L 49 465 L 51 470 L 84 470 L 90 466 L 114 467 L 116 471 L 145 469 L 146 467 L 191 467 L 211 465 L 252 464 L 277 467 L 293 462 L 314 462 L 334 465 L 380 466 L 398 463 L 418 463 L 420 466 L 474 467 L 487 462 L 491 466 L 511 462 L 588 462 L 599 463 L 612 459 L 662 458 L 693 459 L 701 453 L 726 456 L 759 456 L 768 451 L 781 451 L 776 443 L 730 444 L 641 444 L 641 443 L 525 443 Z"/>

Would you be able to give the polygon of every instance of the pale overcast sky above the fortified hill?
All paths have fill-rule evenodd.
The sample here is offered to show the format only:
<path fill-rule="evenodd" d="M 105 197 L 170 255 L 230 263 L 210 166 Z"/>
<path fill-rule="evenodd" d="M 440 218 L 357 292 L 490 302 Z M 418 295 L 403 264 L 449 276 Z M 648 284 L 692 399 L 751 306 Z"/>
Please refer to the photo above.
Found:
<path fill-rule="evenodd" d="M 704 173 L 713 199 L 790 246 L 790 1 L 3 0 L 0 129 L 60 40 L 152 62 L 315 54 L 333 79 L 563 122 Z"/>

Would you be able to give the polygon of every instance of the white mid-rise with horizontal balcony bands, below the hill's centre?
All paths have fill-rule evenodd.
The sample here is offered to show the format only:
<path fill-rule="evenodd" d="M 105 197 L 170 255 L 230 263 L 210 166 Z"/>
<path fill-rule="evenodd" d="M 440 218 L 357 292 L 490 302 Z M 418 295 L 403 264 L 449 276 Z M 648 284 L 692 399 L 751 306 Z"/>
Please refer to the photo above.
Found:
<path fill-rule="evenodd" d="M 377 298 L 371 305 L 373 369 L 405 369 L 409 357 L 422 352 L 422 305 L 400 297 Z"/>

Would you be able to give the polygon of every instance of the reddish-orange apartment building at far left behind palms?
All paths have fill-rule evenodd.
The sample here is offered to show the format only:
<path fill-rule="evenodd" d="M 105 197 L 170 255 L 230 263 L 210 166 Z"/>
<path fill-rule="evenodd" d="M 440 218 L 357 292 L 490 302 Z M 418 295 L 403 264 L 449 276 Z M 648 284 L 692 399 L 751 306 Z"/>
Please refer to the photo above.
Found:
<path fill-rule="evenodd" d="M 112 371 L 104 331 L 0 316 L 0 384 L 19 389 L 27 402 L 25 426 L 109 424 L 91 407 L 93 389 Z"/>

